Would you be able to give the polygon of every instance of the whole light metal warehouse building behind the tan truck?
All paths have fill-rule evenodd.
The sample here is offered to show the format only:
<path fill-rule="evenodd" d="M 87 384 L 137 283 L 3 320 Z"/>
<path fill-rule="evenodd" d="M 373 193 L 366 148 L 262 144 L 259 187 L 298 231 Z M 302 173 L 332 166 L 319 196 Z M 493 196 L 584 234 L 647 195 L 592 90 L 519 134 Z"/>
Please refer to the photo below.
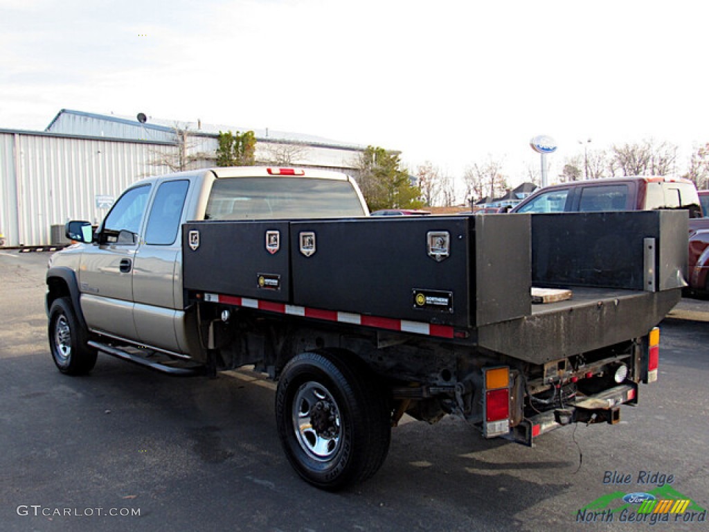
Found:
<path fill-rule="evenodd" d="M 62 243 L 67 220 L 99 223 L 125 187 L 174 170 L 181 157 L 189 168 L 215 165 L 219 131 L 247 130 L 66 109 L 43 132 L 0 129 L 0 233 L 8 246 Z M 255 134 L 264 164 L 352 174 L 364 150 L 310 135 Z"/>

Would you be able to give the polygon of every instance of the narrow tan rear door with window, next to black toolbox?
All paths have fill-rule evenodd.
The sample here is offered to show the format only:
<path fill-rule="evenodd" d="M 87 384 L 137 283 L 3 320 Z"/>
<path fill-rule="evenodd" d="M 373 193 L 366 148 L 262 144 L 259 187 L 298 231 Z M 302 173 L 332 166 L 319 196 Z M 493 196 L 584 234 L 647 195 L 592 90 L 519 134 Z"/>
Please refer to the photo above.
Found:
<path fill-rule="evenodd" d="M 133 318 L 146 345 L 180 353 L 176 328 L 182 326 L 182 238 L 180 236 L 189 179 L 157 186 L 133 268 Z"/>

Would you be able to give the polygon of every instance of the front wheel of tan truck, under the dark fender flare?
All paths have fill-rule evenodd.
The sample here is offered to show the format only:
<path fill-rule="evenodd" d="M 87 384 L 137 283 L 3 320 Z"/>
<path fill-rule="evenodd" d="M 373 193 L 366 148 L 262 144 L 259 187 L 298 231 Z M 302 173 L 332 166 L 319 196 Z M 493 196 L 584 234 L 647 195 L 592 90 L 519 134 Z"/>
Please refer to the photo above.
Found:
<path fill-rule="evenodd" d="M 52 301 L 49 311 L 49 347 L 60 372 L 83 375 L 94 369 L 96 350 L 86 343 L 88 333 L 82 328 L 68 297 Z"/>

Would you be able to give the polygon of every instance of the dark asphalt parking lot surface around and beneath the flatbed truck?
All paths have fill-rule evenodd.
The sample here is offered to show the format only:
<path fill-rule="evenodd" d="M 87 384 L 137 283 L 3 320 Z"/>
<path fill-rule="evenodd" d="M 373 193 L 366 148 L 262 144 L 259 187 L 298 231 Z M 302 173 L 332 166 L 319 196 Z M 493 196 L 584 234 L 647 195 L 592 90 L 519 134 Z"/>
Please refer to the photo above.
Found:
<path fill-rule="evenodd" d="M 451 416 L 409 421 L 375 477 L 333 494 L 286 462 L 262 375 L 180 379 L 106 355 L 89 376 L 57 372 L 47 258 L 0 250 L 0 532 L 705 529 L 700 511 L 658 527 L 579 521 L 579 510 L 632 492 L 709 508 L 709 326 L 691 318 L 709 301 L 683 299 L 685 314 L 661 324 L 659 381 L 618 425 L 562 428 L 525 448 Z M 654 483 L 639 482 L 645 472 Z"/>

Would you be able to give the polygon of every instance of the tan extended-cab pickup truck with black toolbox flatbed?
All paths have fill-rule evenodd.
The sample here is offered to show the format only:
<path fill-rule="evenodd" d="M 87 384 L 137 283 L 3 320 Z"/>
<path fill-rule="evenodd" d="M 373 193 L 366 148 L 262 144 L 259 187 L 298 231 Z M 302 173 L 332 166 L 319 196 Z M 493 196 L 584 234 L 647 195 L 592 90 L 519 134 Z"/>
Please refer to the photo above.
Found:
<path fill-rule="evenodd" d="M 137 182 L 95 230 L 67 223 L 76 243 L 47 272 L 52 358 L 67 375 L 99 352 L 172 375 L 263 372 L 286 457 L 323 489 L 374 475 L 404 414 L 531 446 L 618 423 L 657 379 L 686 211 L 368 214 L 332 172 Z"/>

